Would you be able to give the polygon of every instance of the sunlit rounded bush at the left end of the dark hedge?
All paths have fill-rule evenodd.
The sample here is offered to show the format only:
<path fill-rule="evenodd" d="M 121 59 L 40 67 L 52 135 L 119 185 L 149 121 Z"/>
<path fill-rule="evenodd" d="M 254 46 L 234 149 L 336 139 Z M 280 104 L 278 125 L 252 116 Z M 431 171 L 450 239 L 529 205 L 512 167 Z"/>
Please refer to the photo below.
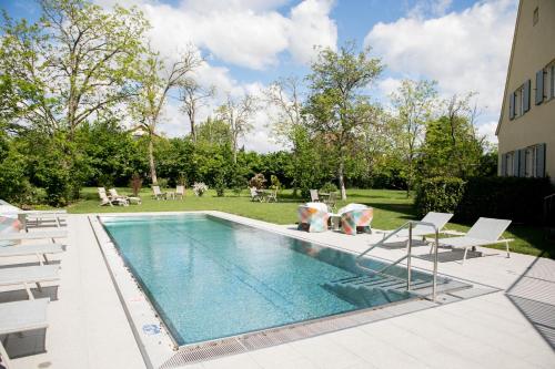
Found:
<path fill-rule="evenodd" d="M 423 181 L 414 201 L 416 212 L 424 216 L 428 212 L 454 213 L 464 193 L 464 182 L 455 177 L 435 177 Z"/>

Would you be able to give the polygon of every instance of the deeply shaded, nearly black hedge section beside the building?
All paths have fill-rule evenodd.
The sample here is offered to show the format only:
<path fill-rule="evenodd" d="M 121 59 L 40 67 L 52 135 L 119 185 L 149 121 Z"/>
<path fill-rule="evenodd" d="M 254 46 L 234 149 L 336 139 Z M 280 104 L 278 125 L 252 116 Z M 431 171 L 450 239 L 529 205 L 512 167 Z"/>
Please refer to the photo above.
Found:
<path fill-rule="evenodd" d="M 543 198 L 553 192 L 549 178 L 472 177 L 455 216 L 468 223 L 485 216 L 539 225 Z"/>

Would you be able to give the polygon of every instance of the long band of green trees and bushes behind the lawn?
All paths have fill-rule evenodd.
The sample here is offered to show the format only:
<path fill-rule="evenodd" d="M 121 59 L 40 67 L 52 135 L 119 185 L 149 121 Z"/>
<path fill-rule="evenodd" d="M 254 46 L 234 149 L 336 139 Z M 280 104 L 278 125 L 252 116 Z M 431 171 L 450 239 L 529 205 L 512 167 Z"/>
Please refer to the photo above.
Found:
<path fill-rule="evenodd" d="M 0 27 L 0 197 L 63 205 L 83 186 L 154 184 L 241 188 L 256 173 L 306 195 L 335 183 L 407 194 L 431 176 L 495 174 L 496 154 L 474 126 L 473 94 L 442 100 L 433 81 L 401 82 L 380 104 L 371 88 L 385 65 L 347 42 L 317 49 L 307 75 L 282 78 L 262 96 L 214 96 L 188 47 L 175 60 L 153 51 L 137 8 L 108 11 L 85 0 L 41 0 L 36 23 L 3 13 Z M 179 95 L 190 134 L 162 135 Z M 269 109 L 272 107 L 272 109 Z M 287 150 L 246 152 L 260 111 Z"/>

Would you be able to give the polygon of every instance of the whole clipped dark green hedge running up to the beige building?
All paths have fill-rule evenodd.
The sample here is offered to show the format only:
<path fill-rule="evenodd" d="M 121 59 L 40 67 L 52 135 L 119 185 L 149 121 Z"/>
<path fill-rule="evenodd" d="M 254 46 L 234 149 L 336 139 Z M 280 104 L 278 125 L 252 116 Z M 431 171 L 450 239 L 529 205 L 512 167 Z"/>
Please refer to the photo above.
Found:
<path fill-rule="evenodd" d="M 474 223 L 481 216 L 511 219 L 514 223 L 541 225 L 543 198 L 555 192 L 549 178 L 454 177 L 423 181 L 415 206 L 427 212 L 454 213 L 454 219 Z"/>

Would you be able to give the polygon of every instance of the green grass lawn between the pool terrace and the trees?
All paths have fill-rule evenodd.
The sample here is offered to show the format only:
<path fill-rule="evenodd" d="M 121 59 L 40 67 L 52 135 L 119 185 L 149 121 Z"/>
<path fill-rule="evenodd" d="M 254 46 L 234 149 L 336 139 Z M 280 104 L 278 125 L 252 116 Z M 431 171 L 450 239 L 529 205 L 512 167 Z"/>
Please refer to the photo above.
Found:
<path fill-rule="evenodd" d="M 130 194 L 129 188 L 118 188 L 120 194 Z M 142 205 L 99 206 L 97 188 L 84 188 L 82 201 L 70 205 L 70 213 L 134 213 L 134 212 L 175 212 L 175 211 L 221 211 L 246 216 L 254 219 L 276 224 L 294 224 L 296 207 L 303 201 L 292 196 L 291 191 L 283 191 L 279 195 L 279 203 L 253 203 L 246 191 L 241 196 L 226 192 L 224 197 L 216 197 L 215 192 L 209 191 L 204 196 L 196 197 L 188 189 L 183 201 L 155 201 L 151 197 L 151 189 L 141 192 Z M 393 229 L 408 219 L 415 219 L 412 198 L 406 198 L 405 192 L 393 189 L 349 189 L 347 202 L 340 202 L 337 208 L 347 203 L 361 203 L 374 207 L 372 226 L 380 229 Z M 468 225 L 448 224 L 450 229 L 466 230 Z M 522 225 L 512 225 L 504 235 L 515 238 L 511 249 L 516 253 L 542 255 L 555 258 L 555 245 L 544 239 L 543 229 Z M 503 248 L 498 245 L 495 248 Z"/>

